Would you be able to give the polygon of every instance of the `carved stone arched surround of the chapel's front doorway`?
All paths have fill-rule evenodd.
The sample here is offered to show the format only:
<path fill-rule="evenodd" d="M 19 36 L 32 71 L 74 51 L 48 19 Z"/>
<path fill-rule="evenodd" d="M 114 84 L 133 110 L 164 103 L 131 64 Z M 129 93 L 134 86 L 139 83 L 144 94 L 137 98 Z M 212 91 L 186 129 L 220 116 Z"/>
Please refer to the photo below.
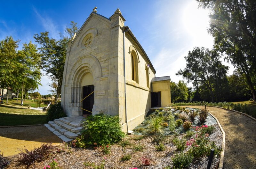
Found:
<path fill-rule="evenodd" d="M 88 78 L 89 76 L 89 78 Z M 90 86 L 89 92 L 94 91 L 94 87 L 97 86 L 97 81 L 102 77 L 102 69 L 99 60 L 94 56 L 83 56 L 77 60 L 72 67 L 69 76 L 68 84 L 65 86 L 64 97 L 65 102 L 69 102 L 71 113 L 70 115 L 83 115 L 83 98 L 86 93 L 85 88 Z M 86 81 L 90 81 L 86 83 Z M 86 87 L 84 87 L 86 86 Z M 88 92 L 88 91 L 87 91 Z M 69 96 L 67 96 L 69 94 Z M 93 95 L 91 95 L 93 96 Z M 87 100 L 91 99 L 92 103 L 94 97 L 88 97 Z M 68 98 L 70 97 L 70 98 Z M 93 105 L 93 104 L 92 104 Z M 71 108 L 72 107 L 72 108 Z M 69 109 L 69 108 L 68 108 Z M 92 112 L 92 108 L 89 110 Z"/>

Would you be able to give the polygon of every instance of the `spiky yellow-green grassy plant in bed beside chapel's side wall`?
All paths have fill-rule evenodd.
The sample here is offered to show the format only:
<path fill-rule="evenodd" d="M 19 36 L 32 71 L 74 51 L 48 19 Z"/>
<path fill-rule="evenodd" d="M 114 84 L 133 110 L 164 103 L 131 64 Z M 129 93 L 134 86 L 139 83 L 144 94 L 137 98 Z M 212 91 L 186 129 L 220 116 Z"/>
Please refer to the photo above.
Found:
<path fill-rule="evenodd" d="M 153 133 L 155 135 L 162 133 L 164 128 L 162 123 L 164 122 L 164 120 L 165 118 L 163 116 L 148 119 L 147 122 L 149 124 L 150 133 Z"/>

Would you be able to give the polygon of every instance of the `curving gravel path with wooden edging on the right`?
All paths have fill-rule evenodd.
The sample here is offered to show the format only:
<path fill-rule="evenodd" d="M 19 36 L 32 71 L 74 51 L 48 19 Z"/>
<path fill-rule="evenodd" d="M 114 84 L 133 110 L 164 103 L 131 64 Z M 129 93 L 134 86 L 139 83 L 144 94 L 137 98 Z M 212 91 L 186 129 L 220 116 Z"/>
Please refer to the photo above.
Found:
<path fill-rule="evenodd" d="M 256 168 L 256 121 L 233 111 L 216 107 L 207 108 L 219 120 L 226 133 L 223 168 Z"/>

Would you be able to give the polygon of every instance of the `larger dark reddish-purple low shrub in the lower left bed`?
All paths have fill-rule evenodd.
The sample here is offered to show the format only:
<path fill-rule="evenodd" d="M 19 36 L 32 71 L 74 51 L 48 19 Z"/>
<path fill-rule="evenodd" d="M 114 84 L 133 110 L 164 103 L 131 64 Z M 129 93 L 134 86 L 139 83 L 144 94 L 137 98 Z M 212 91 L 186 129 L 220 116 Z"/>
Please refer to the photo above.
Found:
<path fill-rule="evenodd" d="M 20 150 L 20 158 L 18 159 L 18 163 L 22 165 L 33 165 L 36 161 L 43 161 L 45 158 L 49 157 L 53 153 L 52 143 L 42 144 L 41 147 L 36 148 L 32 151 L 28 151 L 28 149 L 24 149 L 25 152 Z"/>

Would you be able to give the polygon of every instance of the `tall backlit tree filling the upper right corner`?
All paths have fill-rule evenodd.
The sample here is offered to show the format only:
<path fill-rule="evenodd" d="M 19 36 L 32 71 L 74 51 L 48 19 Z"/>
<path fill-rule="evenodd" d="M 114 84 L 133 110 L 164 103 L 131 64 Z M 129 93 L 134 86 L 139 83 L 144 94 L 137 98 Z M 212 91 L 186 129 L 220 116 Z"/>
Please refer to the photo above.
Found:
<path fill-rule="evenodd" d="M 256 5 L 255 0 L 196 0 L 211 10 L 209 33 L 215 48 L 242 70 L 256 99 Z"/>

